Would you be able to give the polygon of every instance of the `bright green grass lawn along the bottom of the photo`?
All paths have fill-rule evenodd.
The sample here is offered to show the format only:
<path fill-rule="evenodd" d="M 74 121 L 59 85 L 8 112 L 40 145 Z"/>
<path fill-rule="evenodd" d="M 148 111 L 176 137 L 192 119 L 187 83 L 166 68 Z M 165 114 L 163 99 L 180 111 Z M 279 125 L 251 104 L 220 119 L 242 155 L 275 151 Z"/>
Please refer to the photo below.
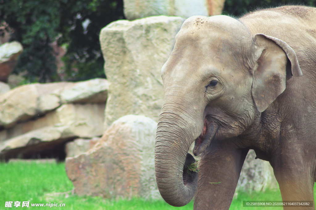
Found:
<path fill-rule="evenodd" d="M 71 193 L 49 195 L 72 189 L 73 185 L 66 175 L 64 163 L 0 163 L 0 209 L 24 209 L 21 206 L 5 208 L 5 201 L 30 201 L 30 204 L 65 203 L 65 207 L 30 207 L 30 209 L 193 209 L 192 201 L 185 207 L 172 207 L 164 201 L 143 201 L 142 199 L 110 201 L 101 197 L 80 197 Z M 279 191 L 266 191 L 251 195 L 239 192 L 230 209 L 266 209 L 262 207 L 243 208 L 242 201 L 250 200 L 281 200 L 281 195 Z M 269 210 L 274 209 L 282 208 L 269 207 Z"/>

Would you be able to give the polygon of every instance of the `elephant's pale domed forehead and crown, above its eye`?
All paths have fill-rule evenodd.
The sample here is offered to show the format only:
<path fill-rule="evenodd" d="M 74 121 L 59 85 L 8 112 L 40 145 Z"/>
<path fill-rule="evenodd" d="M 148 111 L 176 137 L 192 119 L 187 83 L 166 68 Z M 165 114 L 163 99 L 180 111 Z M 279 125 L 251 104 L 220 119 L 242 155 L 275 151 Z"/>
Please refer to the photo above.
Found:
<path fill-rule="evenodd" d="M 162 74 L 170 72 L 173 78 L 180 79 L 194 72 L 191 77 L 204 79 L 210 75 L 243 71 L 242 54 L 252 44 L 252 39 L 246 29 L 237 34 L 228 30 L 236 26 L 244 27 L 238 20 L 225 15 L 189 18 L 176 36 L 173 52 Z"/>

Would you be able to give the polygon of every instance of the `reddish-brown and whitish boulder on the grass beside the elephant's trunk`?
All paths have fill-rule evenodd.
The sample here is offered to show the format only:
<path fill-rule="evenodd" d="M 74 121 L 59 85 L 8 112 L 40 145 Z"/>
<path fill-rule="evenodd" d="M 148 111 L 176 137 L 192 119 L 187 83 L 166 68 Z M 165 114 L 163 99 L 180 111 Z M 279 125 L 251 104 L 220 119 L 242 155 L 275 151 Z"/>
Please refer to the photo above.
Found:
<path fill-rule="evenodd" d="M 155 182 L 157 123 L 128 115 L 113 122 L 94 148 L 66 158 L 66 172 L 78 195 L 160 199 Z"/>

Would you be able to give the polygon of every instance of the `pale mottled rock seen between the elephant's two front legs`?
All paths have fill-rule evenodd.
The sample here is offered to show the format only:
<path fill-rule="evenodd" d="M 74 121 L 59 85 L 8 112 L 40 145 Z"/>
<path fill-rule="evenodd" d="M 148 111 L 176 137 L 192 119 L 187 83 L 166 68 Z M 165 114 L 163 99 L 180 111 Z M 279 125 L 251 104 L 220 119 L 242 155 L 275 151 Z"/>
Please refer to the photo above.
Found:
<path fill-rule="evenodd" d="M 255 159 L 256 153 L 249 150 L 238 180 L 236 191 L 264 191 L 278 189 L 270 163 Z"/>

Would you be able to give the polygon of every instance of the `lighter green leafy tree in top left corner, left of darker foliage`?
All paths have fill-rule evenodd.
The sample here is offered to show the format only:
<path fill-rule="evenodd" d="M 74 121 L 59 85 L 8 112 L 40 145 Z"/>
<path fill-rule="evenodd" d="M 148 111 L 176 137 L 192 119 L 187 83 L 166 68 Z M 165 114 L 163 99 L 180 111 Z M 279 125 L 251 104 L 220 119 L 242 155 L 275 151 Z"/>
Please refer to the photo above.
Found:
<path fill-rule="evenodd" d="M 0 20 L 13 28 L 12 39 L 20 41 L 24 47 L 16 71 L 26 71 L 31 81 L 53 81 L 57 76 L 49 44 L 58 35 L 58 15 L 58 7 L 53 0 L 0 1 Z"/>

